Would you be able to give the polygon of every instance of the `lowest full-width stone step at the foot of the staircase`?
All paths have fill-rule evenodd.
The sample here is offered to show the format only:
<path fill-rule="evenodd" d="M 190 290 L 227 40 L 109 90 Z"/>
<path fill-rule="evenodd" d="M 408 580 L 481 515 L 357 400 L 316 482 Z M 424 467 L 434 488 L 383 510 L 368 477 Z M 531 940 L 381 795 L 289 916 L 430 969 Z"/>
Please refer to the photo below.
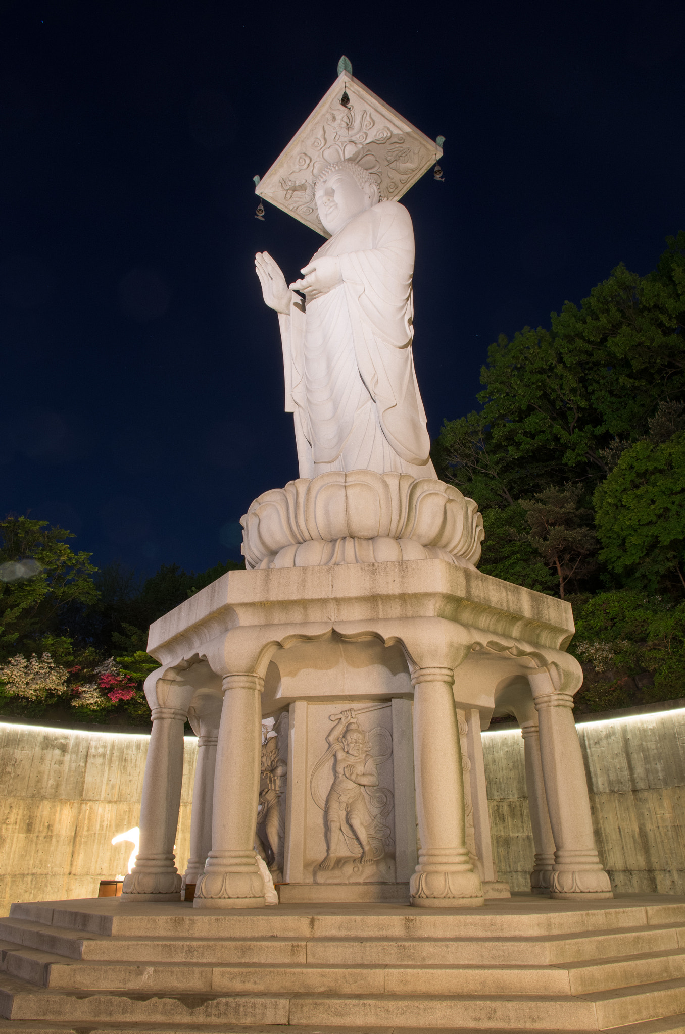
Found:
<path fill-rule="evenodd" d="M 0 1015 L 88 1024 L 236 1024 L 518 1031 L 597 1031 L 685 1010 L 685 980 L 568 996 L 206 995 L 57 992 L 0 978 Z M 325 1021 L 325 1023 L 324 1023 Z M 167 1030 L 169 1028 L 166 1028 Z M 192 1027 L 189 1028 L 190 1030 Z M 222 1032 L 224 1034 L 224 1032 Z"/>

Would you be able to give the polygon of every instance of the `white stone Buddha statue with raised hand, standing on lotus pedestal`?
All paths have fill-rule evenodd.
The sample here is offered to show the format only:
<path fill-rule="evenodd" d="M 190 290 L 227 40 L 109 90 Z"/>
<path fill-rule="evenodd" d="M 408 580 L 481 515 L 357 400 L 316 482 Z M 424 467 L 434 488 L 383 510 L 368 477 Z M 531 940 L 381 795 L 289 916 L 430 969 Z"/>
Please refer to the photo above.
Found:
<path fill-rule="evenodd" d="M 266 251 L 256 256 L 264 301 L 278 313 L 300 477 L 436 478 L 412 354 L 409 212 L 379 202 L 373 176 L 352 160 L 320 173 L 316 203 L 331 236 L 301 279 L 289 286 Z"/>

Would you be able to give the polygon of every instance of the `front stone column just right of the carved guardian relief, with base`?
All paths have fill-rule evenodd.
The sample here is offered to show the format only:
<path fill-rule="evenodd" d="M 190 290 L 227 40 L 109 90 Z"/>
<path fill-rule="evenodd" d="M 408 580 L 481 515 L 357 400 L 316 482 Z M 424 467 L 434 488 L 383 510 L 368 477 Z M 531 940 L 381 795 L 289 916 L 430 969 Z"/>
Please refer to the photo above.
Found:
<path fill-rule="evenodd" d="M 421 849 L 410 880 L 412 905 L 484 905 L 466 845 L 464 771 L 451 668 L 417 668 L 414 686 L 414 767 Z"/>

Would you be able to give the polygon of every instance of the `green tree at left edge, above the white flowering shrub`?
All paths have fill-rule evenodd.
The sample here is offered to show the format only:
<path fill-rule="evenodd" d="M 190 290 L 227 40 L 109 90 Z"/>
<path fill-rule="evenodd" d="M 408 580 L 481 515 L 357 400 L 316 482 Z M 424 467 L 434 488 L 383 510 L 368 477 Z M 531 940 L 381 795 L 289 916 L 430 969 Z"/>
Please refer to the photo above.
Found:
<path fill-rule="evenodd" d="M 69 606 L 92 606 L 98 594 L 90 553 L 75 553 L 75 538 L 48 521 L 8 516 L 0 521 L 0 652 L 35 649 L 59 631 Z"/>

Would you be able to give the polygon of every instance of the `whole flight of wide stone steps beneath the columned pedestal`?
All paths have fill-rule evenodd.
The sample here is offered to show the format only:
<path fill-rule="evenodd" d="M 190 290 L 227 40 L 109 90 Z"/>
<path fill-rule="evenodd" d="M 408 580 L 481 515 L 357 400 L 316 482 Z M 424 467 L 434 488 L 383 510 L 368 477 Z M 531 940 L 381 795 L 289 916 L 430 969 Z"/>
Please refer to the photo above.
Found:
<path fill-rule="evenodd" d="M 0 951 L 0 1031 L 685 1034 L 685 898 L 46 902 L 12 905 Z"/>

